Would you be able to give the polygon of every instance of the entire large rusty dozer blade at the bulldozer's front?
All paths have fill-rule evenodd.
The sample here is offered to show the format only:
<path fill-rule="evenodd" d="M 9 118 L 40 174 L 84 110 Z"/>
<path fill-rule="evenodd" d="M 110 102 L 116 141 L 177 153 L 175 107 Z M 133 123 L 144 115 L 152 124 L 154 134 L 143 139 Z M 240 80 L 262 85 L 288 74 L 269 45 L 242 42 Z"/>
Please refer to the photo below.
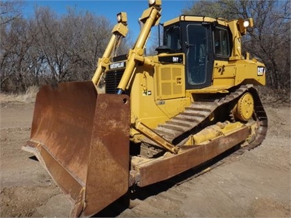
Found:
<path fill-rule="evenodd" d="M 68 196 L 70 216 L 89 217 L 128 190 L 129 126 L 128 96 L 98 94 L 92 81 L 46 85 L 23 150 Z"/>

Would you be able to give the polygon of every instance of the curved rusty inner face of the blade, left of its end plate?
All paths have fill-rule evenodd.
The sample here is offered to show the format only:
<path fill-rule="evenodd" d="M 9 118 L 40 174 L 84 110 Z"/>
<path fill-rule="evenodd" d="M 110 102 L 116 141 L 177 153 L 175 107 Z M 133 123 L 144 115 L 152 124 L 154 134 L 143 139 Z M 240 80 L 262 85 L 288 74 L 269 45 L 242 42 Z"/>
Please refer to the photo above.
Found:
<path fill-rule="evenodd" d="M 85 185 L 97 92 L 91 81 L 42 87 L 36 98 L 31 141 L 39 141 L 68 173 Z"/>

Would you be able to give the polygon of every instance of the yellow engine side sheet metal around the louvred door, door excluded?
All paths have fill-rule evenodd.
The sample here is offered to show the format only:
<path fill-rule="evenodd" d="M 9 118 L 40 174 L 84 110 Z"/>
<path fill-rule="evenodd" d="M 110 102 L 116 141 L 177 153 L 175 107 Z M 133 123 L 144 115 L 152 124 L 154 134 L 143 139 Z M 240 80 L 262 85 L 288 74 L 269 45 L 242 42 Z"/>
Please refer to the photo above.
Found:
<path fill-rule="evenodd" d="M 184 95 L 180 98 L 160 98 L 158 95 L 160 89 L 158 77 L 160 76 L 157 73 L 160 67 L 162 65 L 156 63 L 155 67 L 138 66 L 136 69 L 133 83 L 130 86 L 130 98 L 138 102 L 138 104 L 130 105 L 133 126 L 136 122 L 142 122 L 149 128 L 155 128 L 191 105 L 191 98 L 185 98 Z M 182 77 L 184 78 L 184 70 L 182 70 Z M 130 129 L 130 136 L 133 141 L 139 141 L 141 137 L 134 128 Z"/>

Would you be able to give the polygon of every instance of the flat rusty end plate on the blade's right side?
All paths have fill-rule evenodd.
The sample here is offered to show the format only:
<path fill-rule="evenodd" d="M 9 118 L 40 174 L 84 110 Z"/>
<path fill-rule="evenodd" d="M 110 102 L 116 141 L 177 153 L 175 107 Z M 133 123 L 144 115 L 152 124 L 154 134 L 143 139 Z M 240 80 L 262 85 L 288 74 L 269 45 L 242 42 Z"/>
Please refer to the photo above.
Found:
<path fill-rule="evenodd" d="M 98 95 L 83 216 L 94 215 L 128 190 L 129 127 L 129 97 Z"/>

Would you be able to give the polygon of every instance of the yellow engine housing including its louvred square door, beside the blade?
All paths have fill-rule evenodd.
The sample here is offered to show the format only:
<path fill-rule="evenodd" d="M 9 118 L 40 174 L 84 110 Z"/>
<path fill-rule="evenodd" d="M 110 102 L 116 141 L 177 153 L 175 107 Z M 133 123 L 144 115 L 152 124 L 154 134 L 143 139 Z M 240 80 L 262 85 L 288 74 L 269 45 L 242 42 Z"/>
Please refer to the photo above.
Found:
<path fill-rule="evenodd" d="M 157 56 L 148 59 L 154 66 L 137 66 L 130 85 L 130 98 L 138 102 L 131 104 L 131 123 L 155 128 L 184 111 L 191 98 L 185 96 L 184 64 L 160 63 Z M 138 141 L 137 131 L 131 130 L 130 135 Z"/>

